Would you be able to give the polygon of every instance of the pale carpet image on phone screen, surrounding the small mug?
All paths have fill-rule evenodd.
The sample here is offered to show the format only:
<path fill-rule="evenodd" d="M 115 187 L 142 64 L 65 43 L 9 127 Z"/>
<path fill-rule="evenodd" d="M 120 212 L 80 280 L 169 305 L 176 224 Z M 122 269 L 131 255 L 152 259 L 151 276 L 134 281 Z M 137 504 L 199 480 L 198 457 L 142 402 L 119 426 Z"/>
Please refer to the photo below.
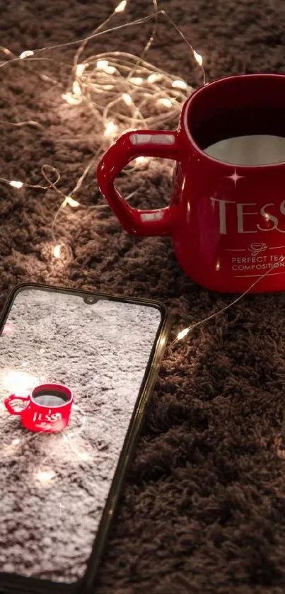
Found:
<path fill-rule="evenodd" d="M 16 296 L 0 337 L 0 571 L 83 576 L 160 321 L 139 304 Z M 29 431 L 4 406 L 46 382 L 74 393 L 62 433 Z"/>

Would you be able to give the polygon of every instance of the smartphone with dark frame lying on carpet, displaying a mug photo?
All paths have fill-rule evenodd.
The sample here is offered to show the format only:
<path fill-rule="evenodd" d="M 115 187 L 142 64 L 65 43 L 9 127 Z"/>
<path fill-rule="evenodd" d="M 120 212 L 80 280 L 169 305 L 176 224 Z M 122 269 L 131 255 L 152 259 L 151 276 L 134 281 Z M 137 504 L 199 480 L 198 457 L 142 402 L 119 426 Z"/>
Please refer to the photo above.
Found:
<path fill-rule="evenodd" d="M 0 326 L 0 591 L 91 593 L 169 331 L 147 299 L 26 284 Z"/>

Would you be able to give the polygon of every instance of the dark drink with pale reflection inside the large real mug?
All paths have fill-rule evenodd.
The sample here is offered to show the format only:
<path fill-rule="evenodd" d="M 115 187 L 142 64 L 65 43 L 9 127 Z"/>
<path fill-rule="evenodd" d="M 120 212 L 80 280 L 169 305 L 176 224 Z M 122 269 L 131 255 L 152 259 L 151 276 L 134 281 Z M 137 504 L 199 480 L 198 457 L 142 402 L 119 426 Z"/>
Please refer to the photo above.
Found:
<path fill-rule="evenodd" d="M 221 111 L 190 129 L 194 140 L 215 159 L 236 165 L 285 161 L 285 109 Z"/>

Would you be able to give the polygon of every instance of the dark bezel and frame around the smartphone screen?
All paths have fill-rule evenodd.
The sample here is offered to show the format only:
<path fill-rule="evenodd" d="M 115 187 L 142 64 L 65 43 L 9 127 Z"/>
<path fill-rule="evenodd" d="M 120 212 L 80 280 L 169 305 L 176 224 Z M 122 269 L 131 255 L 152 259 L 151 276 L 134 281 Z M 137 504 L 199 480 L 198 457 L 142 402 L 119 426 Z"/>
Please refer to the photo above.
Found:
<path fill-rule="evenodd" d="M 2 332 L 6 319 L 8 318 L 8 314 L 11 311 L 11 308 L 13 307 L 13 302 L 16 298 L 16 295 L 18 295 L 19 292 L 27 289 L 43 290 L 47 292 L 62 292 L 69 295 L 79 295 L 83 297 L 83 299 L 88 296 L 93 296 L 96 298 L 96 302 L 98 301 L 98 299 L 105 299 L 121 303 L 123 302 L 138 305 L 141 304 L 144 306 L 149 306 L 158 309 L 158 311 L 161 313 L 161 322 L 158 326 L 158 331 L 156 332 L 156 338 L 153 341 L 153 347 L 151 349 L 151 353 L 149 356 L 149 362 L 146 365 L 144 378 L 141 382 L 141 387 L 136 399 L 134 411 L 132 413 L 132 417 L 129 422 L 129 427 L 124 438 L 124 444 L 120 452 L 117 467 L 115 469 L 115 474 L 112 479 L 110 491 L 107 496 L 105 508 L 100 519 L 98 531 L 93 542 L 91 556 L 88 559 L 87 568 L 84 576 L 79 581 L 73 583 L 60 583 L 49 580 L 43 580 L 40 578 L 18 576 L 14 573 L 8 574 L 0 572 L 0 587 L 2 592 L 5 594 L 22 594 L 23 592 L 25 592 L 25 594 L 28 594 L 28 592 L 30 594 L 49 594 L 50 592 L 58 594 L 91 594 L 91 592 L 93 593 L 95 588 L 95 581 L 98 575 L 100 561 L 102 559 L 105 544 L 107 542 L 107 536 L 110 532 L 112 518 L 115 515 L 117 503 L 122 494 L 124 479 L 127 474 L 129 463 L 132 460 L 134 447 L 136 445 L 136 439 L 139 436 L 141 425 L 146 413 L 146 407 L 151 399 L 151 393 L 156 382 L 156 378 L 158 376 L 158 370 L 161 364 L 161 360 L 163 358 L 166 341 L 168 339 L 168 335 L 170 332 L 170 316 L 165 305 L 153 299 L 125 297 L 124 295 L 112 295 L 110 293 L 99 291 L 86 291 L 81 289 L 74 289 L 71 287 L 59 287 L 55 285 L 25 282 L 21 285 L 17 285 L 16 287 L 14 287 L 13 290 L 11 290 L 11 292 L 8 294 L 8 297 L 4 302 L 4 307 L 0 314 L 0 333 Z M 94 304 L 90 305 L 90 307 L 93 306 Z M 86 307 L 88 307 L 88 304 L 86 304 Z"/>

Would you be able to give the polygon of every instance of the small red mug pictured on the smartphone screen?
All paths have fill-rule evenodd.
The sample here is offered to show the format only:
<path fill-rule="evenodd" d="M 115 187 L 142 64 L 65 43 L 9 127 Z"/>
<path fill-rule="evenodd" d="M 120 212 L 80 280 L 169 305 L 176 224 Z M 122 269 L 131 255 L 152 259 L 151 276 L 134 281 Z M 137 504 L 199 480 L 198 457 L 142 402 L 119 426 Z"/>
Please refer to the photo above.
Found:
<path fill-rule="evenodd" d="M 21 400 L 26 406 L 16 411 L 11 405 L 13 400 Z M 6 409 L 11 415 L 20 415 L 22 425 L 30 431 L 57 433 L 69 423 L 74 396 L 62 384 L 41 384 L 33 389 L 29 396 L 11 394 L 4 400 Z"/>

